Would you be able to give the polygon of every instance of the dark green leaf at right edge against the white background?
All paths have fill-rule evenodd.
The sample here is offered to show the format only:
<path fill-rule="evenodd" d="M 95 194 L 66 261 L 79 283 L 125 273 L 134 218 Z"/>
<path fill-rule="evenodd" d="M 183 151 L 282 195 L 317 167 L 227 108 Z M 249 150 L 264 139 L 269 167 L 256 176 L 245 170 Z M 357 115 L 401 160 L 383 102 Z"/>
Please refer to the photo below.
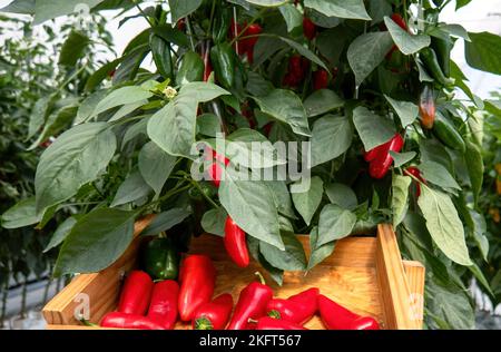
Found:
<path fill-rule="evenodd" d="M 501 75 L 501 37 L 490 32 L 469 35 L 471 42 L 464 42 L 468 65 L 482 71 Z"/>

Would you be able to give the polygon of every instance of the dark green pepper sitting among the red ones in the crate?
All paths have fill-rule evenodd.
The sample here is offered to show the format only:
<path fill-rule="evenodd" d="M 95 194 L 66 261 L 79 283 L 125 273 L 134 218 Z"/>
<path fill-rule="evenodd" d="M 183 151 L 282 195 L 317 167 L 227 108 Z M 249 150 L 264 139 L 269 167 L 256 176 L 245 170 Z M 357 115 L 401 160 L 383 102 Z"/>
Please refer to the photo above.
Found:
<path fill-rule="evenodd" d="M 179 253 L 169 237 L 157 237 L 141 248 L 141 264 L 154 280 L 176 280 L 179 274 Z"/>

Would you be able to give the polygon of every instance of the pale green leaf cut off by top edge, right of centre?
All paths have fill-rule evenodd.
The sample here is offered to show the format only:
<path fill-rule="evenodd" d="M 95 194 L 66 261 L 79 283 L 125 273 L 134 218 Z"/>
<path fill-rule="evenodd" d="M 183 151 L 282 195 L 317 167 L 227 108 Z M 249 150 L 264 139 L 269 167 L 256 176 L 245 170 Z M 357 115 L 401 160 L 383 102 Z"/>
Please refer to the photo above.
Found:
<path fill-rule="evenodd" d="M 305 0 L 304 6 L 327 17 L 371 20 L 363 0 Z"/>

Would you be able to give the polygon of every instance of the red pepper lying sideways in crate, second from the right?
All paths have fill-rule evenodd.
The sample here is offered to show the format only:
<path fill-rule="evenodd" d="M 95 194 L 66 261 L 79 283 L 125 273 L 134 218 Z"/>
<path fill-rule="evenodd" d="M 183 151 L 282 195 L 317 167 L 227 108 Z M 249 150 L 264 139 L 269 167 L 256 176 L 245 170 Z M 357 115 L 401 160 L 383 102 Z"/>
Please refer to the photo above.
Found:
<path fill-rule="evenodd" d="M 287 300 L 273 299 L 268 302 L 266 312 L 272 317 L 303 325 L 315 314 L 318 294 L 320 290 L 312 287 Z"/>

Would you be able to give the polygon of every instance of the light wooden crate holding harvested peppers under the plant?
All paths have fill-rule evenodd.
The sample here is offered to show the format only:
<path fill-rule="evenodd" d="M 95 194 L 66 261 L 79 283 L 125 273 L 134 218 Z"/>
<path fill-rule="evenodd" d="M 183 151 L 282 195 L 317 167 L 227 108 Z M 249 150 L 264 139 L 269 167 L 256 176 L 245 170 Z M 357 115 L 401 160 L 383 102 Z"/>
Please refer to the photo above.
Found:
<path fill-rule="evenodd" d="M 136 223 L 136 235 L 149 222 L 150 218 L 146 218 Z M 308 237 L 299 236 L 299 239 L 308 254 Z M 47 327 L 99 329 L 81 325 L 75 317 L 75 311 L 88 297 L 90 321 L 99 323 L 107 312 L 116 309 L 121 278 L 134 268 L 140 241 L 136 236 L 127 252 L 108 268 L 76 276 L 45 306 Z M 257 263 L 250 263 L 244 270 L 233 264 L 218 236 L 194 238 L 190 252 L 205 253 L 213 258 L 217 270 L 215 295 L 229 292 L 235 302 L 240 290 L 255 280 L 254 272 L 259 270 Z M 376 236 L 352 236 L 338 241 L 333 255 L 307 275 L 303 272 L 286 272 L 282 287 L 269 277 L 266 278 L 279 297 L 317 286 L 323 294 L 354 312 L 377 319 L 383 329 L 422 329 L 424 267 L 419 262 L 402 261 L 391 225 L 380 225 Z M 305 326 L 324 329 L 317 316 Z M 176 329 L 190 326 L 178 323 Z"/>

